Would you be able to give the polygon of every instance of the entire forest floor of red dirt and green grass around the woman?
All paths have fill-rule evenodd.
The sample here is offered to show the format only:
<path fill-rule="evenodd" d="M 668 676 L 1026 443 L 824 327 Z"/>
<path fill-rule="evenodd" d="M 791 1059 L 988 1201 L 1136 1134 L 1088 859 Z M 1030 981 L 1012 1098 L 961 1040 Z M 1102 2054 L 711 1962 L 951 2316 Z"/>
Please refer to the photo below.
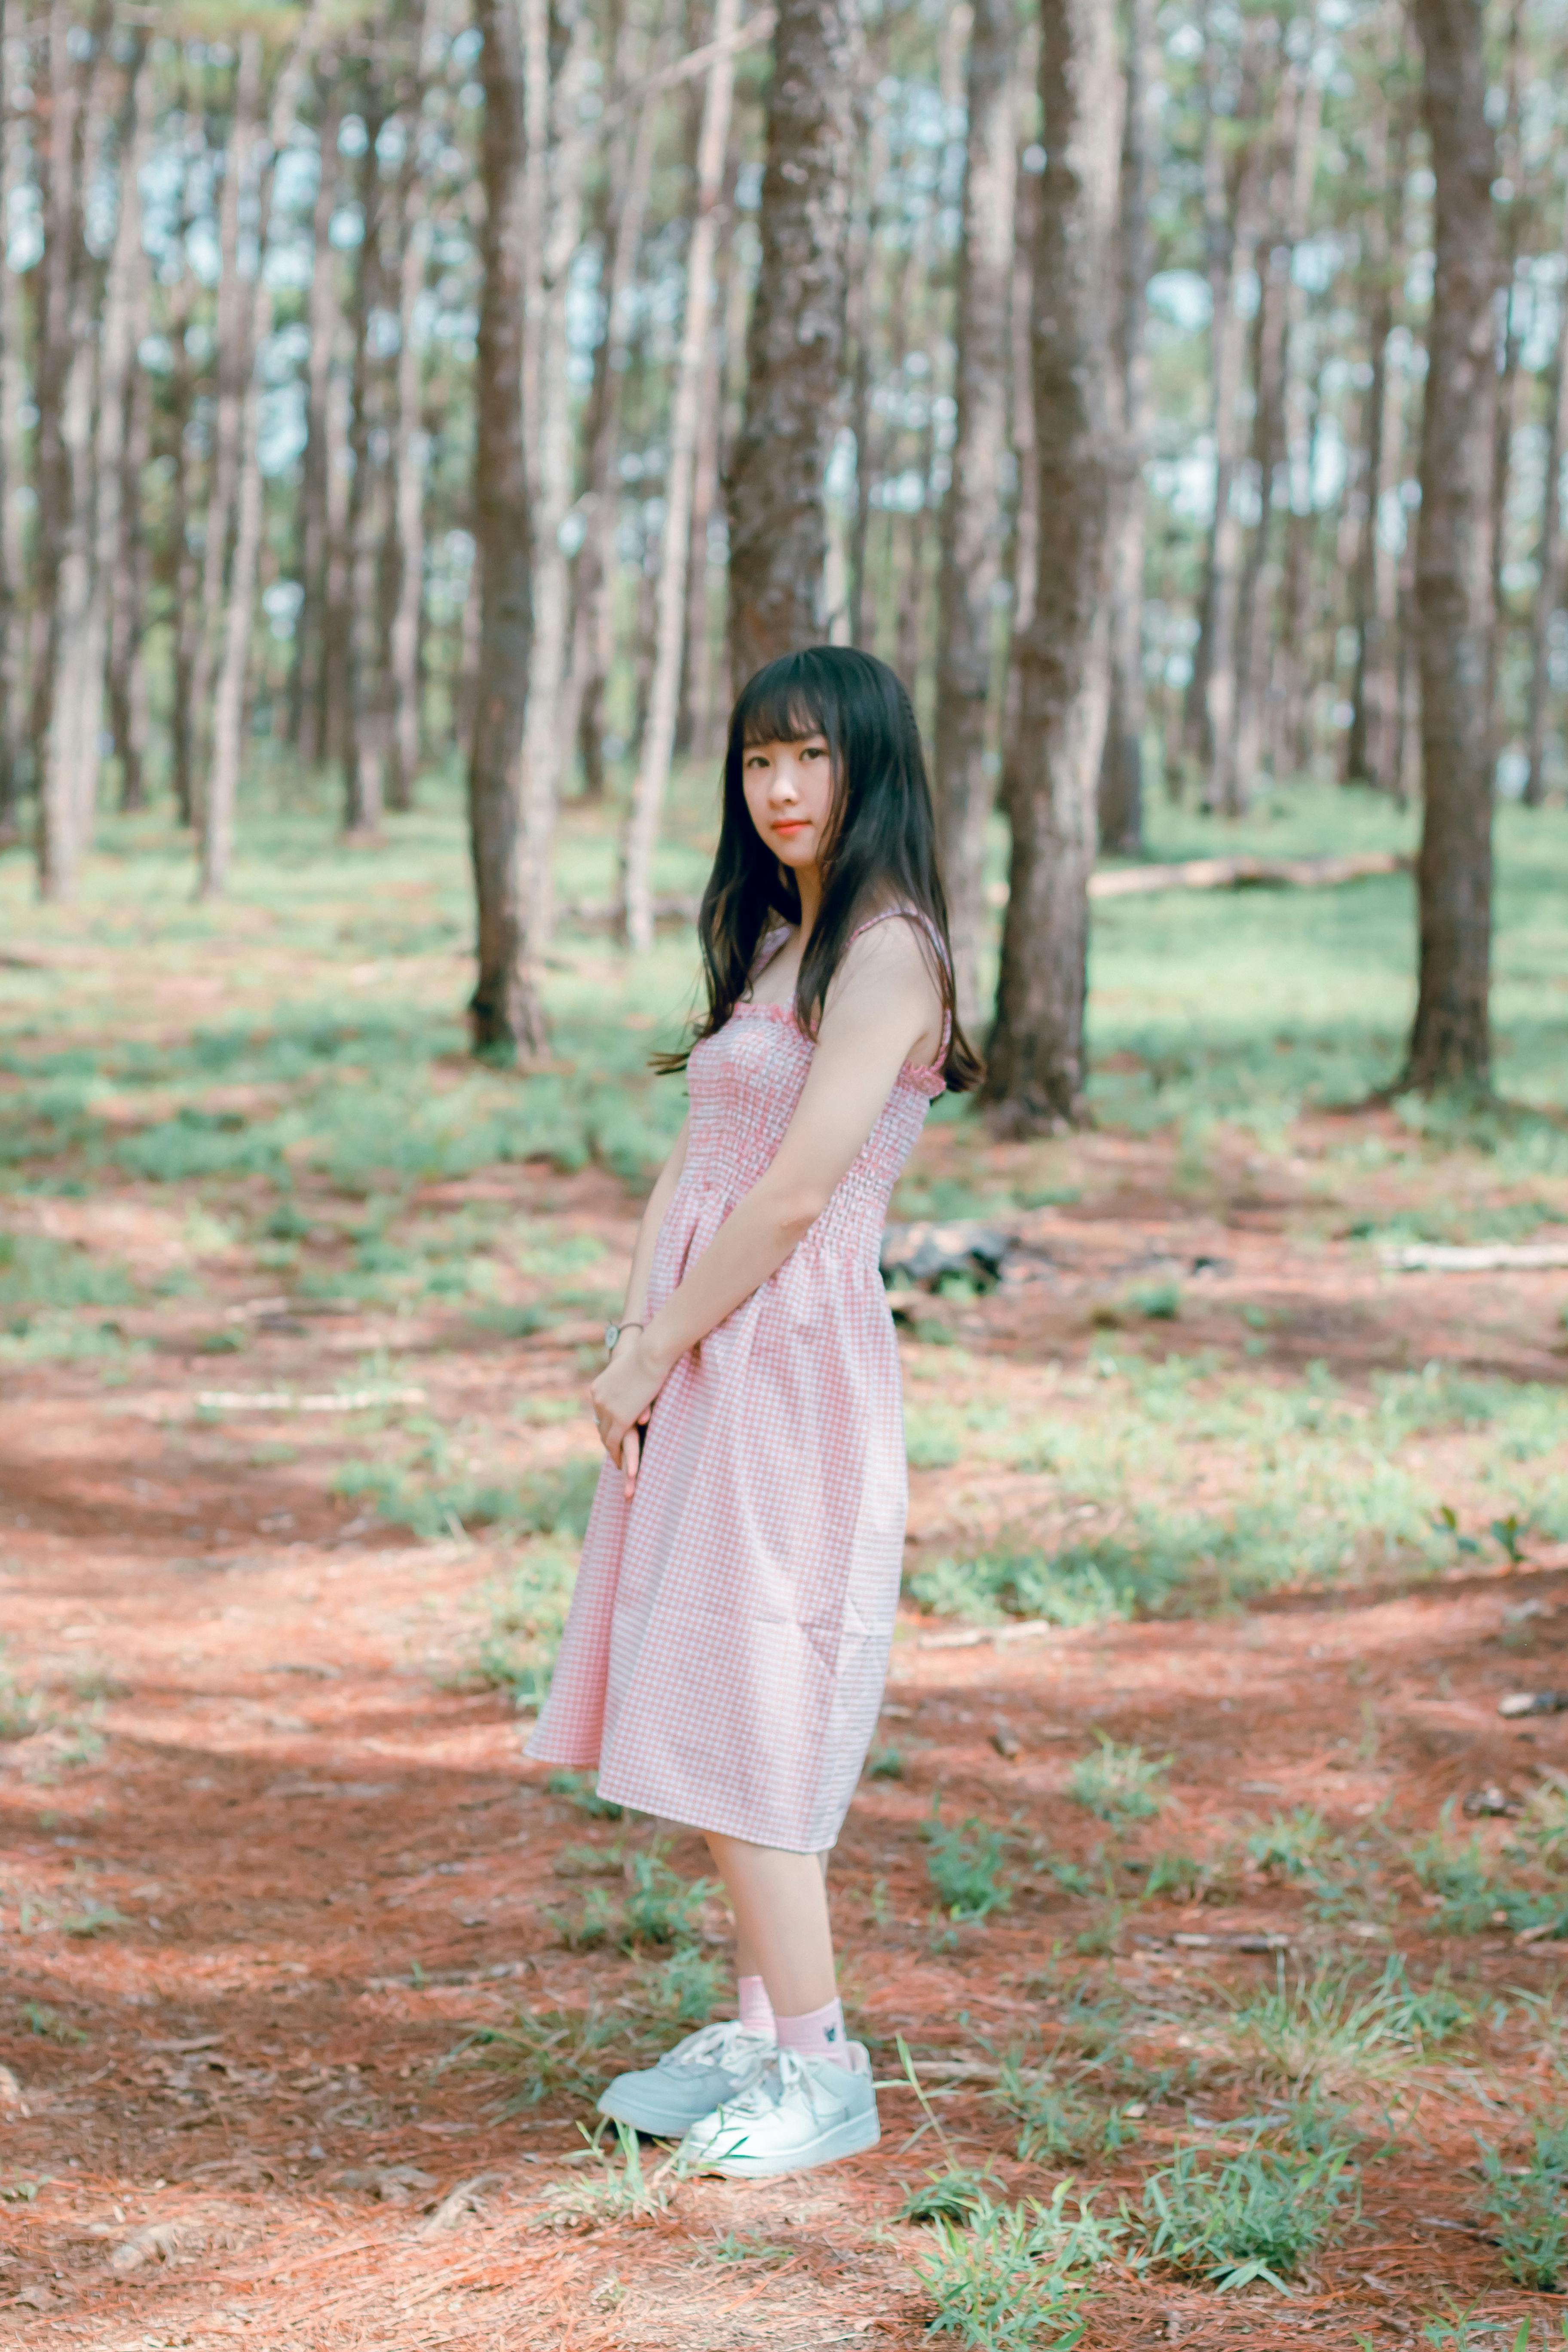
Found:
<path fill-rule="evenodd" d="M 1107 917 L 1100 1127 L 929 1127 L 900 1214 L 1016 1249 L 900 1301 L 884 2140 L 762 2187 L 585 2145 L 726 1922 L 522 1759 L 686 948 L 567 936 L 559 1061 L 475 1073 L 454 811 L 313 823 L 226 910 L 150 823 L 73 915 L 0 863 L 0 2345 L 1568 2340 L 1568 1715 L 1500 1715 L 1568 1693 L 1568 1270 L 1389 1263 L 1568 1237 L 1568 818 L 1505 833 L 1528 1108 L 1340 1108 L 1373 882 Z"/>

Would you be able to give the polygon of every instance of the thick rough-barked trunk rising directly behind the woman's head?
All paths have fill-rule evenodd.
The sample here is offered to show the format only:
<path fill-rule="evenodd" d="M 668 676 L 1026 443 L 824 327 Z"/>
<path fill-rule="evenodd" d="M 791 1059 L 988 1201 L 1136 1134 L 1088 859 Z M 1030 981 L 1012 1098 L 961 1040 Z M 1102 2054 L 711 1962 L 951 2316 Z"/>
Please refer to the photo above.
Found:
<path fill-rule="evenodd" d="M 823 475 L 844 376 L 858 14 L 778 0 L 762 176 L 762 268 L 745 336 L 745 423 L 729 477 L 736 684 L 820 637 Z"/>

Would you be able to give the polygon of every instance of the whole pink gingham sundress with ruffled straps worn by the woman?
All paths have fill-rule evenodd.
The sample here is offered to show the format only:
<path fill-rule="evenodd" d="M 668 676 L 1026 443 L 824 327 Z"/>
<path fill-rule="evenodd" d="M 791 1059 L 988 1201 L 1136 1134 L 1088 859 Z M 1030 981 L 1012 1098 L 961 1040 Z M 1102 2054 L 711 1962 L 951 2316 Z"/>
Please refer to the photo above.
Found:
<path fill-rule="evenodd" d="M 750 1002 L 693 1047 L 649 1315 L 773 1160 L 813 1051 L 790 1004 Z M 632 1501 L 599 1472 L 529 1755 L 597 1764 L 616 1804 L 795 1853 L 839 1835 L 882 1705 L 907 1505 L 882 1225 L 945 1056 L 943 1040 L 938 1063 L 903 1065 L 806 1237 L 679 1359 Z"/>

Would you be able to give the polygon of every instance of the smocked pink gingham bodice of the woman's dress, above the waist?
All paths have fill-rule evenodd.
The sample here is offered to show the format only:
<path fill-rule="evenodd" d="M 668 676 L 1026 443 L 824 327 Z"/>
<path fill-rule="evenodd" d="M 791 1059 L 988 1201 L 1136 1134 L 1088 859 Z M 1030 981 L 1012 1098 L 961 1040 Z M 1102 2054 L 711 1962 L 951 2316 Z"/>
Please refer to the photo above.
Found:
<path fill-rule="evenodd" d="M 795 1117 L 813 1051 L 792 1004 L 736 1004 L 717 1037 L 703 1037 L 691 1049 L 691 1134 L 670 1223 L 679 1221 L 675 1202 L 682 1192 L 717 1192 L 726 1207 L 750 1192 Z M 940 1068 L 903 1065 L 858 1157 L 799 1244 L 802 1251 L 877 1263 L 889 1197 L 943 1084 Z"/>

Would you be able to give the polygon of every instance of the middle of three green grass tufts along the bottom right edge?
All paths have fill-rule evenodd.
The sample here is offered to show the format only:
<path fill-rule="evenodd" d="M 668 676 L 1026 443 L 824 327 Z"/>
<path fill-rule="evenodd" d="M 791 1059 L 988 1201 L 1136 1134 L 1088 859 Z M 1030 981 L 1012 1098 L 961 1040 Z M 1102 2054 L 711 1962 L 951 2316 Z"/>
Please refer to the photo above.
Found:
<path fill-rule="evenodd" d="M 1331 2234 L 1354 2173 L 1345 2150 L 1291 2159 L 1269 2147 L 1218 2157 L 1180 2147 L 1143 2185 L 1150 2253 L 1218 2288 L 1286 2279 Z"/>

